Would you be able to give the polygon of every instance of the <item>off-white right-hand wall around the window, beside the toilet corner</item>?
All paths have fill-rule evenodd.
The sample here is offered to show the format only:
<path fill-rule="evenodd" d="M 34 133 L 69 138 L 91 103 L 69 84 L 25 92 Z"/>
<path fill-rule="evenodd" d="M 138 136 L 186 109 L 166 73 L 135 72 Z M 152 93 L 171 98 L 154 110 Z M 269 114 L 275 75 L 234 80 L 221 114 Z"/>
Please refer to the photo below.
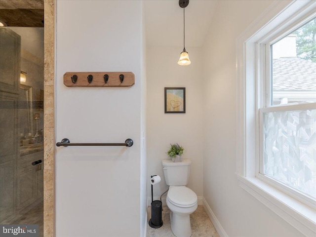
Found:
<path fill-rule="evenodd" d="M 241 189 L 235 175 L 236 39 L 271 3 L 219 1 L 203 48 L 203 195 L 230 237 L 302 236 Z"/>

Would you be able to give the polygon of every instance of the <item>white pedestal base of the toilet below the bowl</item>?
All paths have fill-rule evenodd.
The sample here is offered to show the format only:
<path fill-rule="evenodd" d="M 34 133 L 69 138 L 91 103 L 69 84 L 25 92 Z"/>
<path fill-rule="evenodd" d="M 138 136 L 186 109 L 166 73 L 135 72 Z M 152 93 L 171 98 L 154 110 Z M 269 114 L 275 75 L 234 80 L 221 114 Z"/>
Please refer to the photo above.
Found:
<path fill-rule="evenodd" d="M 176 237 L 190 237 L 192 235 L 190 215 L 183 215 L 170 211 L 172 233 Z"/>

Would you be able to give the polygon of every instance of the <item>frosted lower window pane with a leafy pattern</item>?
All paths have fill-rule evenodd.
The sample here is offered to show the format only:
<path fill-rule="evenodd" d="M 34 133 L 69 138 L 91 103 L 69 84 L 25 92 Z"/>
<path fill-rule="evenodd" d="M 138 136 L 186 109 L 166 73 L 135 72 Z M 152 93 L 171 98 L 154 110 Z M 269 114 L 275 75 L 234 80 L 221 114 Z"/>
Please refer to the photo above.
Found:
<path fill-rule="evenodd" d="M 264 174 L 316 198 L 316 110 L 264 113 Z"/>

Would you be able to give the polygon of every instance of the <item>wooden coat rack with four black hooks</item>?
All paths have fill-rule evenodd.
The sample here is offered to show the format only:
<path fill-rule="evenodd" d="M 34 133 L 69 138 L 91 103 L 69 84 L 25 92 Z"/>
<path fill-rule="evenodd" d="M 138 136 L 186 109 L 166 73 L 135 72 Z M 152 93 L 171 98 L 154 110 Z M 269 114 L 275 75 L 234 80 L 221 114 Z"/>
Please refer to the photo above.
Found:
<path fill-rule="evenodd" d="M 64 74 L 66 86 L 133 86 L 132 72 L 67 72 Z"/>

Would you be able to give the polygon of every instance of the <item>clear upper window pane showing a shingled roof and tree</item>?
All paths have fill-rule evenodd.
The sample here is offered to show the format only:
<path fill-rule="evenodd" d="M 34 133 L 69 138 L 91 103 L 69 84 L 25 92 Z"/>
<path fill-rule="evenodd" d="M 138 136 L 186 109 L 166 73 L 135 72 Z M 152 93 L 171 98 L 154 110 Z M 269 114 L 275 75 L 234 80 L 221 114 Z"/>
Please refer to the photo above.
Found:
<path fill-rule="evenodd" d="M 316 101 L 316 18 L 271 49 L 272 105 Z"/>

